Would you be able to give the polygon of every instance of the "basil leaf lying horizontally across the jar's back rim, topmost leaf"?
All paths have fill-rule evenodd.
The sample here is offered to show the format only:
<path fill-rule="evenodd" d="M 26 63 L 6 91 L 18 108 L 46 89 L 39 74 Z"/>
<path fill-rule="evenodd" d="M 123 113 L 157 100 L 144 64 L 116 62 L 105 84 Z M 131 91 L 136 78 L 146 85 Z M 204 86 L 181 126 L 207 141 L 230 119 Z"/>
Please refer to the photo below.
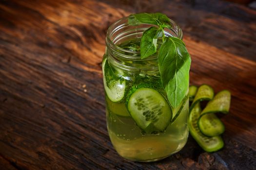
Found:
<path fill-rule="evenodd" d="M 129 25 L 139 25 L 139 24 L 153 24 L 164 27 L 171 28 L 170 19 L 161 13 L 139 13 L 132 14 L 128 18 Z"/>

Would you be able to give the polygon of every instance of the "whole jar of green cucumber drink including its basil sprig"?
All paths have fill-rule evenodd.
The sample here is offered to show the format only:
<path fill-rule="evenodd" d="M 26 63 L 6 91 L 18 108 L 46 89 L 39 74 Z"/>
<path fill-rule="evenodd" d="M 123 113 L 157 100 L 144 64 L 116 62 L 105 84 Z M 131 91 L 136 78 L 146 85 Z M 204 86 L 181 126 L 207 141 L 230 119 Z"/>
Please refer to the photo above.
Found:
<path fill-rule="evenodd" d="M 141 16 L 143 21 L 148 15 L 138 15 Z M 147 24 L 131 26 L 128 17 L 114 23 L 107 33 L 102 60 L 111 142 L 122 157 L 143 162 L 177 153 L 188 138 L 190 56 L 175 22 L 169 23 L 161 14 L 152 16 L 162 20 L 163 25 L 159 28 Z M 166 24 L 171 24 L 168 28 L 173 29 L 163 30 Z M 145 30 L 157 38 L 153 42 L 148 41 L 150 37 L 143 39 Z M 156 46 L 155 49 L 150 46 L 149 53 L 141 48 L 147 43 Z M 169 61 L 164 61 L 165 56 Z"/>

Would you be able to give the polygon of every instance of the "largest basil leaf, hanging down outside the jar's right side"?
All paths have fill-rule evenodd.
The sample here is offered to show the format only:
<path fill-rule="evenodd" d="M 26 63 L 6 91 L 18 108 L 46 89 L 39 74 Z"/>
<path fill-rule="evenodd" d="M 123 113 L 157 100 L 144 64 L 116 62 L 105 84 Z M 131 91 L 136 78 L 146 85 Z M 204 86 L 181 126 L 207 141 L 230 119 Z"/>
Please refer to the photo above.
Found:
<path fill-rule="evenodd" d="M 186 95 L 190 64 L 191 58 L 184 42 L 176 37 L 166 38 L 158 52 L 158 66 L 162 85 L 174 108 Z"/>

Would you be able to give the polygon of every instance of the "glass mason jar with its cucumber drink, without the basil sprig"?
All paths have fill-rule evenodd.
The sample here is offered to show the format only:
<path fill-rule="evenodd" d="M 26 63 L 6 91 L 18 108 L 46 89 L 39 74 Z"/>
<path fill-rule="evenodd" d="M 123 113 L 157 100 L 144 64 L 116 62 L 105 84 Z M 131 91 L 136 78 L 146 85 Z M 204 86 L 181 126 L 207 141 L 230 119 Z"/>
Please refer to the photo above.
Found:
<path fill-rule="evenodd" d="M 182 38 L 181 29 L 171 23 L 164 34 Z M 140 59 L 140 38 L 151 26 L 131 26 L 128 17 L 116 21 L 107 31 L 102 61 L 112 144 L 122 157 L 143 162 L 177 153 L 188 138 L 188 95 L 172 108 L 161 84 L 157 54 Z"/>

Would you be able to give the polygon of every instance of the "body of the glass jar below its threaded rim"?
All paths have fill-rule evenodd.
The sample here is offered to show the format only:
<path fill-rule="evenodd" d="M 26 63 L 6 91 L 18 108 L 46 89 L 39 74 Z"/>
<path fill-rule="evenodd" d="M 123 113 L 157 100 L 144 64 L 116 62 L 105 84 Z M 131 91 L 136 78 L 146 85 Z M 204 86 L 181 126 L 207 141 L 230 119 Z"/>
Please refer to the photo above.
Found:
<path fill-rule="evenodd" d="M 133 36 L 140 37 L 138 34 L 133 34 Z M 126 42 L 129 39 L 135 38 L 131 36 L 126 37 L 128 38 L 125 39 Z M 124 41 L 124 39 L 122 40 Z M 119 41 L 119 47 L 122 43 Z M 106 52 L 102 61 L 107 128 L 114 148 L 119 155 L 126 159 L 143 162 L 157 161 L 177 153 L 186 144 L 189 134 L 187 127 L 189 112 L 188 95 L 184 97 L 177 108 L 172 108 L 161 85 L 157 58 L 151 57 L 147 60 L 140 60 L 138 57 L 134 57 L 136 53 L 131 53 L 129 57 L 127 51 L 124 51 L 126 52 L 124 56 L 124 52 L 119 50 L 121 49 L 114 48 L 113 50 L 113 47 L 108 44 L 107 40 Z M 146 92 L 143 93 L 143 90 L 146 90 Z M 152 95 L 150 97 L 152 100 L 150 99 L 150 102 L 150 100 L 147 100 L 146 95 L 150 95 L 151 92 Z M 135 94 L 136 97 L 134 97 Z M 139 103 L 132 105 L 131 101 L 133 98 L 140 100 L 138 99 L 140 97 L 144 98 L 143 103 L 146 103 L 145 107 L 140 108 L 141 110 L 145 108 L 146 110 L 147 108 L 153 110 L 161 108 L 162 106 L 158 106 L 160 103 L 159 99 L 168 104 L 165 107 L 169 108 L 170 114 L 169 112 L 161 113 L 157 117 L 165 116 L 162 119 L 165 121 L 163 124 L 166 124 L 164 129 L 149 132 L 147 128 L 141 127 L 138 121 L 140 118 L 138 117 L 145 116 L 145 119 L 149 120 L 154 115 L 145 115 L 143 112 L 143 114 L 138 116 L 133 113 L 133 108 L 140 106 Z M 154 103 L 154 101 L 156 102 Z M 164 112 L 164 110 L 162 111 Z M 167 119 L 168 122 L 166 122 Z M 152 124 L 157 122 L 160 125 L 160 121 L 161 119 L 156 119 L 152 121 Z"/>

